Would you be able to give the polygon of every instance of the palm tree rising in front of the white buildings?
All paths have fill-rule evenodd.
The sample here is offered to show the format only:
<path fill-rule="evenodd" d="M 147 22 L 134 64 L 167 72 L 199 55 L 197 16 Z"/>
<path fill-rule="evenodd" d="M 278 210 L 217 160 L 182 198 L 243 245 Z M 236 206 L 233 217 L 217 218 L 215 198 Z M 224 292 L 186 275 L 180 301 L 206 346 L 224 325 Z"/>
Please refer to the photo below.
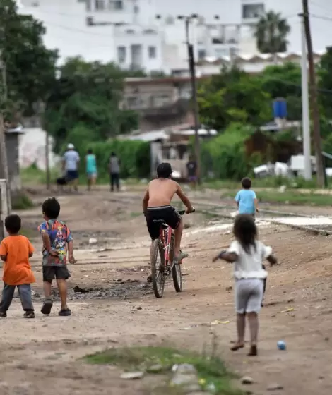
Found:
<path fill-rule="evenodd" d="M 261 16 L 254 28 L 256 45 L 261 54 L 276 54 L 287 51 L 287 35 L 290 25 L 280 13 L 269 11 Z"/>

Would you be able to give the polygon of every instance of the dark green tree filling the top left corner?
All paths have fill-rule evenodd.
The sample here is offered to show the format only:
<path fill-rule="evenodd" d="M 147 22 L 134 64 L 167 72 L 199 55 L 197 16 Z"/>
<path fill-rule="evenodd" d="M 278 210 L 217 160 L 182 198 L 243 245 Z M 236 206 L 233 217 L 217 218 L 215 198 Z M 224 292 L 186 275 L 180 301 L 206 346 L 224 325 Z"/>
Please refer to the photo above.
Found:
<path fill-rule="evenodd" d="M 6 66 L 8 100 L 1 107 L 32 114 L 33 104 L 45 100 L 55 80 L 57 51 L 43 43 L 45 28 L 30 15 L 17 13 L 14 0 L 0 1 L 0 52 Z M 3 83 L 3 81 L 1 82 Z"/>

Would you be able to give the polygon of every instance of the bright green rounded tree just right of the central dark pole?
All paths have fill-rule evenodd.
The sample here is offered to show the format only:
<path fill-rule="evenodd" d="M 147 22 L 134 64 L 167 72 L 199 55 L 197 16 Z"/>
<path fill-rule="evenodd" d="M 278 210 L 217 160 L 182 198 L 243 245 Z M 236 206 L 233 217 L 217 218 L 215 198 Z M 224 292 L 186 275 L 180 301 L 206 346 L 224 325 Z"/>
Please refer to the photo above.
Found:
<path fill-rule="evenodd" d="M 209 128 L 223 130 L 230 123 L 261 126 L 271 119 L 271 100 L 259 78 L 234 68 L 213 75 L 198 90 L 201 121 Z"/>

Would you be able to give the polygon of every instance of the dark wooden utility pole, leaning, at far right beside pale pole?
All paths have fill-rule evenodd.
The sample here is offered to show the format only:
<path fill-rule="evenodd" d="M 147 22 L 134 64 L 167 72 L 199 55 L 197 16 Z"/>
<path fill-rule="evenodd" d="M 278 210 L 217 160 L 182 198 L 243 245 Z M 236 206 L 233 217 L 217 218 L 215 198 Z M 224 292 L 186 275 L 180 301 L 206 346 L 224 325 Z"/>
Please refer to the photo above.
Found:
<path fill-rule="evenodd" d="M 310 102 L 312 107 L 312 120 L 314 123 L 314 147 L 316 154 L 317 183 L 319 187 L 323 188 L 326 183 L 326 174 L 325 174 L 323 156 L 321 153 L 319 107 L 318 107 L 318 99 L 317 99 L 316 76 L 314 70 L 314 54 L 312 51 L 312 36 L 310 32 L 310 23 L 309 23 L 308 0 L 302 0 L 302 6 L 303 6 L 304 32 L 307 40 L 307 50 L 308 50 Z"/>

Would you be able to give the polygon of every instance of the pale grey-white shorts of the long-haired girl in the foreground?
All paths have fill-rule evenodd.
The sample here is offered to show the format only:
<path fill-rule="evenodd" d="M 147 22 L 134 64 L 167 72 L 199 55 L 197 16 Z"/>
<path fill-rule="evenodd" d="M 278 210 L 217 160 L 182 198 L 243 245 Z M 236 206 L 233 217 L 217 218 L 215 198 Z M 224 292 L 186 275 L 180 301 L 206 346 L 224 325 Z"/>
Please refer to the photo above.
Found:
<path fill-rule="evenodd" d="M 263 279 L 241 279 L 235 281 L 235 309 L 237 313 L 260 312 L 263 289 Z"/>

